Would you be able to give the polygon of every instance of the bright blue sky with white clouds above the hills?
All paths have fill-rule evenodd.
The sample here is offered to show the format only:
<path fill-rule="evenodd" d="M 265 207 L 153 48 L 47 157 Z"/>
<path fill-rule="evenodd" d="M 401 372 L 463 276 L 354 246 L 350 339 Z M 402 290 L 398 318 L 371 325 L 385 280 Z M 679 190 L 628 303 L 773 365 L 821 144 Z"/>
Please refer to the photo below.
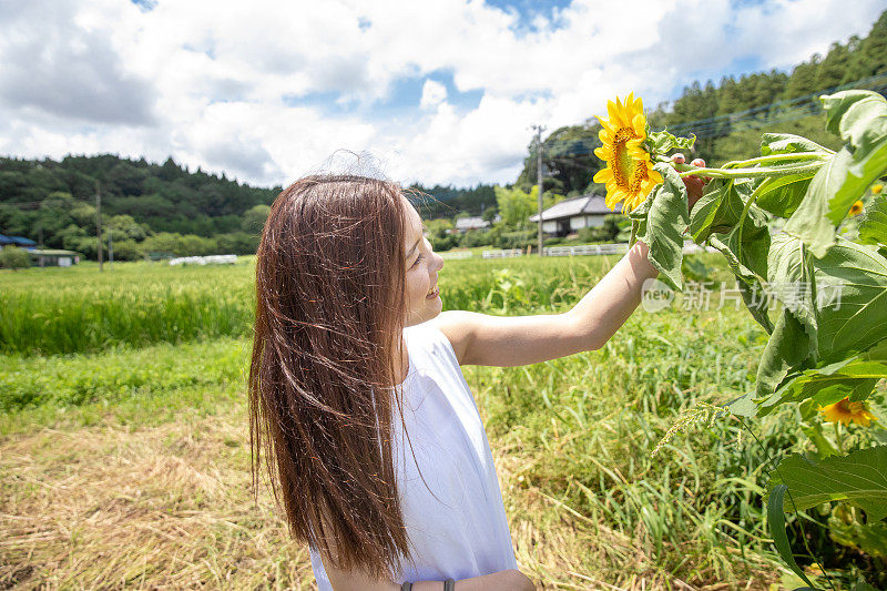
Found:
<path fill-rule="evenodd" d="M 883 0 L 855 0 L 853 10 L 846 0 L 0 3 L 0 154 L 172 155 L 271 186 L 341 166 L 347 151 L 401 182 L 508 183 L 533 124 L 581 123 L 630 91 L 653 108 L 694 80 L 788 69 L 865 35 L 884 8 Z"/>

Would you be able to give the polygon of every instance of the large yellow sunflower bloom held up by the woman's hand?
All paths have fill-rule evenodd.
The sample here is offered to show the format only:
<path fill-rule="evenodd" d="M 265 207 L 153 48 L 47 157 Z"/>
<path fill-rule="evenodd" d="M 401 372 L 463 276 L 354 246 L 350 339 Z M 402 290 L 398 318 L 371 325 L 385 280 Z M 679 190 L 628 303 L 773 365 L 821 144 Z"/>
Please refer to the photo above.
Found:
<path fill-rule="evenodd" d="M 601 122 L 599 136 L 603 146 L 594 154 L 606 162 L 606 167 L 594 175 L 595 183 L 606 185 L 606 206 L 611 210 L 624 202 L 622 213 L 631 212 L 643 203 L 646 195 L 662 182 L 662 175 L 653 170 L 650 154 L 642 147 L 646 140 L 646 118 L 641 99 L 634 93 L 625 98 L 625 104 L 608 101 L 609 120 Z"/>

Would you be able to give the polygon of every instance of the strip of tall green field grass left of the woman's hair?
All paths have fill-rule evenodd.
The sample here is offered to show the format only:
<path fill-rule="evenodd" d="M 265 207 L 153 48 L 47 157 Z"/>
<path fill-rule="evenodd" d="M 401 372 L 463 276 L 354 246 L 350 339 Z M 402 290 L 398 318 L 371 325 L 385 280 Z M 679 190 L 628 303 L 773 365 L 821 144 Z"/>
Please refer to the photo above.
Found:
<path fill-rule="evenodd" d="M 0 277 L 0 351 L 92 353 L 242 336 L 255 309 L 252 269 L 115 264 L 113 272 L 69 276 L 8 273 Z"/>

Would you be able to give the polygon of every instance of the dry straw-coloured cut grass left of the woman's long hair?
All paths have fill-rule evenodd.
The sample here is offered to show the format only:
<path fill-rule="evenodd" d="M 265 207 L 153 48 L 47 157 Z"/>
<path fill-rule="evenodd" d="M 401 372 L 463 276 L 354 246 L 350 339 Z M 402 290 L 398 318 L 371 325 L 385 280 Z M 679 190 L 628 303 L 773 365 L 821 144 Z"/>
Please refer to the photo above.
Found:
<path fill-rule="evenodd" d="M 312 589 L 234 417 L 0 442 L 0 588 Z"/>

